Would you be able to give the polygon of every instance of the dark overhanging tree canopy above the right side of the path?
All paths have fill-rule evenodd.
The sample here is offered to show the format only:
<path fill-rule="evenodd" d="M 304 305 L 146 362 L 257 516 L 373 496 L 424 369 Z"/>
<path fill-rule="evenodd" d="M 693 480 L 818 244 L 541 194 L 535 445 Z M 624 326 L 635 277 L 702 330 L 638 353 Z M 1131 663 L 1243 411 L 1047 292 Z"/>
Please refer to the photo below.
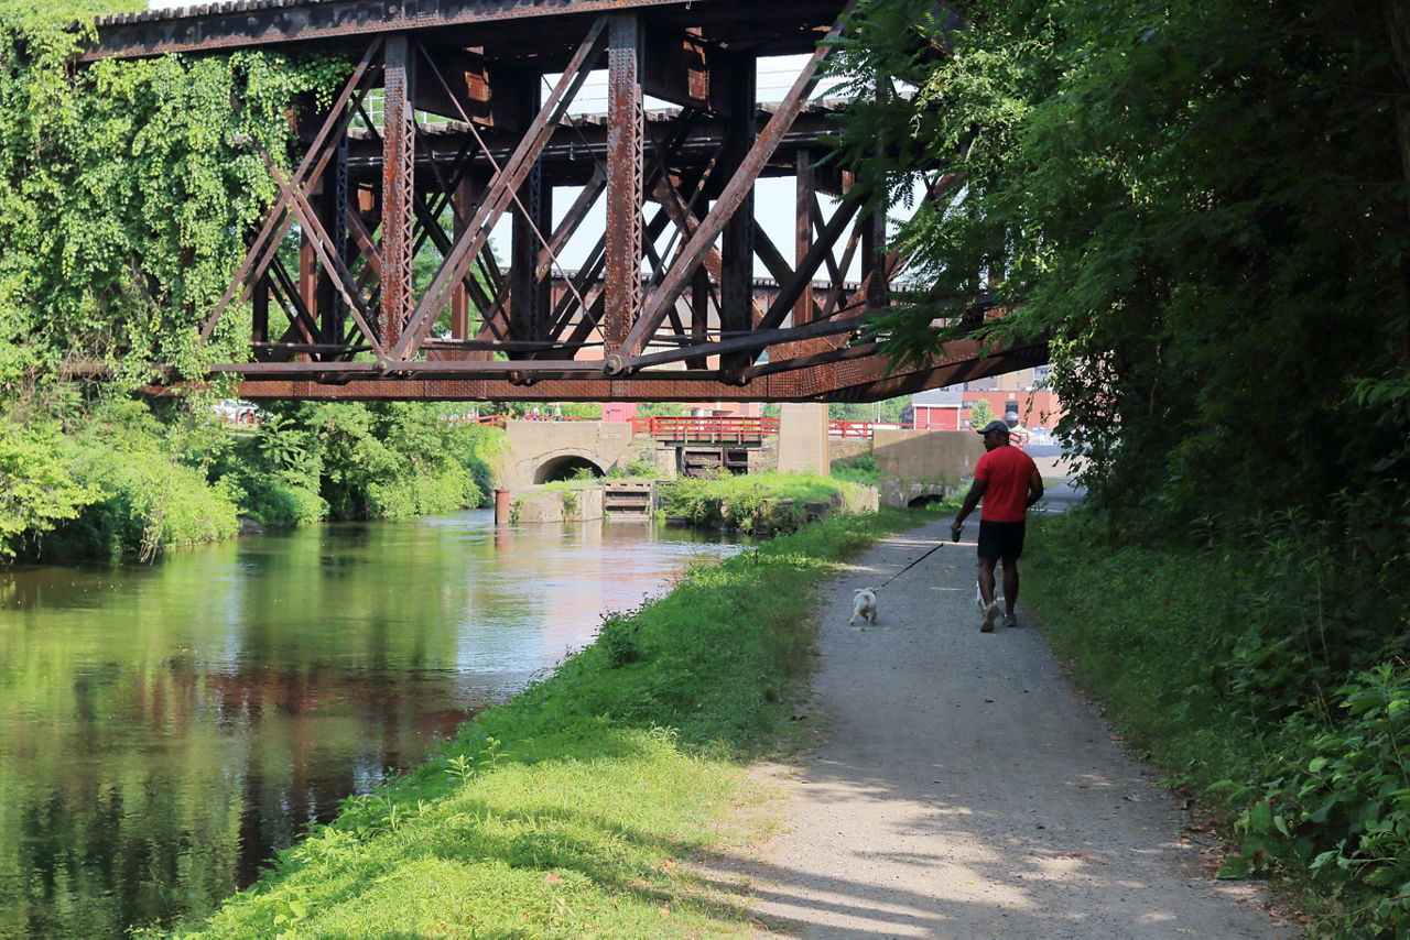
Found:
<path fill-rule="evenodd" d="M 1144 519 L 1403 509 L 1394 6 L 863 0 L 843 159 L 893 204 L 963 180 L 901 225 L 931 286 L 880 321 L 893 354 L 991 297 L 988 330 L 1049 337 L 1093 495 Z"/>

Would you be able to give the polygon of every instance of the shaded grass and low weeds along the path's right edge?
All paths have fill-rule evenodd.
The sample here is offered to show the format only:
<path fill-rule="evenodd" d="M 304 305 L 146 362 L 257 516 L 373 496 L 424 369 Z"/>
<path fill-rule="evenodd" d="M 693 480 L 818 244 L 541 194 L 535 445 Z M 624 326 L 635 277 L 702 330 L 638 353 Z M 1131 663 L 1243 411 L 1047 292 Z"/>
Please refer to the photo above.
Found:
<path fill-rule="evenodd" d="M 1340 596 L 1320 528 L 1248 536 L 1151 547 L 1048 520 L 1024 598 L 1125 740 L 1208 796 L 1221 878 L 1275 879 L 1316 936 L 1410 936 L 1410 631 Z"/>

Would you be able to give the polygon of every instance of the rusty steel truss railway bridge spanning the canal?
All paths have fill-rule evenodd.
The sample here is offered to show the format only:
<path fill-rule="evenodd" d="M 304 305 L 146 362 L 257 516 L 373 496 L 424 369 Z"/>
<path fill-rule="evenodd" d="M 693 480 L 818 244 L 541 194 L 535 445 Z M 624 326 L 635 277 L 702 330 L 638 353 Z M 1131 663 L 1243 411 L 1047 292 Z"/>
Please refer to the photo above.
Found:
<path fill-rule="evenodd" d="M 1045 362 L 1043 344 L 962 341 L 891 371 L 866 340 L 905 258 L 847 169 L 822 161 L 847 103 L 811 99 L 846 6 L 244 0 L 100 18 L 83 58 L 300 47 L 357 61 L 303 120 L 292 173 L 261 149 L 281 194 L 202 311 L 203 338 L 251 311 L 251 361 L 213 369 L 244 397 L 876 400 Z M 791 90 L 761 106 L 760 59 L 797 54 L 811 58 Z M 606 114 L 570 114 L 603 69 Z M 795 183 L 791 245 L 756 221 L 766 176 Z M 928 197 L 957 185 L 938 176 Z M 558 189 L 577 194 L 554 224 Z M 839 200 L 830 216 L 822 194 Z M 605 231 L 570 272 L 560 255 L 592 240 L 599 203 Z M 501 266 L 489 237 L 505 217 Z M 296 269 L 279 251 L 290 237 Z M 429 248 L 440 266 L 417 290 Z"/>

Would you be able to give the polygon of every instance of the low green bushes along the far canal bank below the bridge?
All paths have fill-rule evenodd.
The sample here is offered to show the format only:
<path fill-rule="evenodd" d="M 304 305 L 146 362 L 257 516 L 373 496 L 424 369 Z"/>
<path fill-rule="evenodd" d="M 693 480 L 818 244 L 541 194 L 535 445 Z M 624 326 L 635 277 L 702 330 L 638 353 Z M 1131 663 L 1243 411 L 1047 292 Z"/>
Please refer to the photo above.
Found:
<path fill-rule="evenodd" d="M 111 399 L 0 420 L 0 558 L 149 559 L 248 526 L 407 519 L 486 505 L 502 433 L 444 406 L 271 404 L 230 428 L 185 403 Z"/>

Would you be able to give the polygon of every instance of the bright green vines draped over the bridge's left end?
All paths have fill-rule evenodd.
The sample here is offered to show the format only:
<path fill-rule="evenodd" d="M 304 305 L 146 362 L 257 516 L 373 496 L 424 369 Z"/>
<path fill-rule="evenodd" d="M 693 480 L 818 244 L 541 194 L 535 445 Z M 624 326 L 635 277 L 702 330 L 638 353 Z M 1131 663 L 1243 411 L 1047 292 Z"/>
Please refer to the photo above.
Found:
<path fill-rule="evenodd" d="M 0 397 L 72 361 L 111 366 L 121 393 L 152 362 L 245 355 L 238 310 L 207 342 L 197 326 L 276 192 L 254 142 L 288 165 L 286 111 L 326 106 L 350 69 L 257 52 L 75 69 L 66 27 L 96 6 L 0 7 Z"/>

